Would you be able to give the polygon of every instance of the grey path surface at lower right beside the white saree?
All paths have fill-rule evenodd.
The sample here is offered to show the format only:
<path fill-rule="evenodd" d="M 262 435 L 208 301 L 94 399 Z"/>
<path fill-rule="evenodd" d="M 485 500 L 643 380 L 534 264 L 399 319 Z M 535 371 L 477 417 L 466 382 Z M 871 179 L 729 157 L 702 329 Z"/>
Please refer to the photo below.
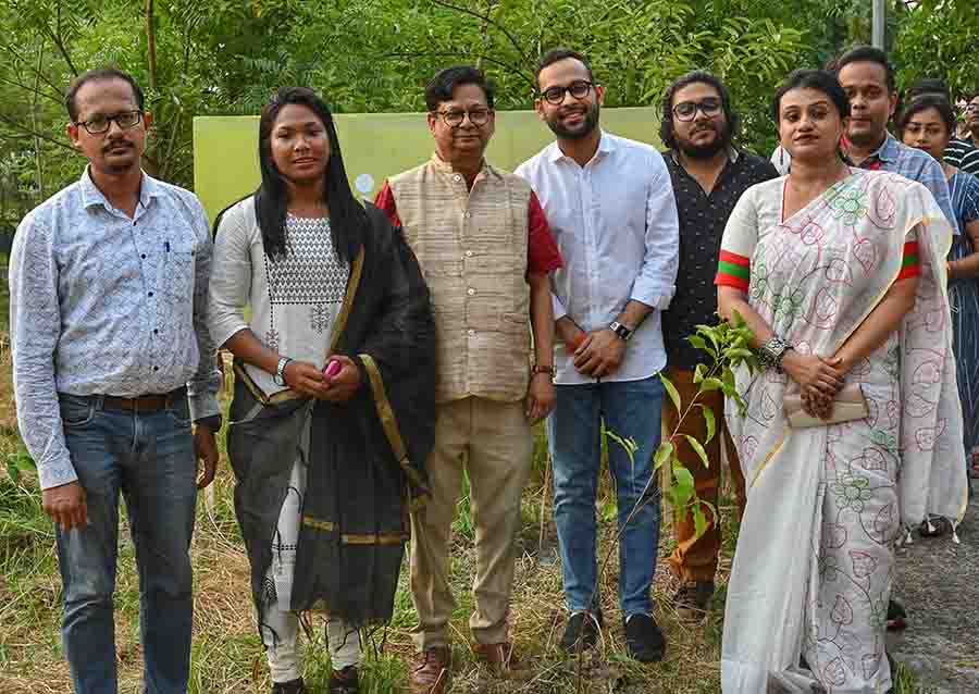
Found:
<path fill-rule="evenodd" d="M 949 536 L 915 535 L 897 553 L 894 595 L 907 609 L 908 627 L 893 639 L 894 658 L 918 674 L 924 692 L 979 692 L 979 484 L 958 529 Z"/>

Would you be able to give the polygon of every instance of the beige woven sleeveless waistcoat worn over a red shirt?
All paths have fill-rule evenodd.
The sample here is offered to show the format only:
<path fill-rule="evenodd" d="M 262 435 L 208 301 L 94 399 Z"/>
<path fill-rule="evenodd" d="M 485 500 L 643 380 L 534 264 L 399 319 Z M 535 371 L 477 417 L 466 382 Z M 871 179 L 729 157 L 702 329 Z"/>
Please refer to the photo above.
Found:
<path fill-rule="evenodd" d="M 438 401 L 521 399 L 530 363 L 530 186 L 484 164 L 470 191 L 437 157 L 388 184 L 432 294 Z"/>

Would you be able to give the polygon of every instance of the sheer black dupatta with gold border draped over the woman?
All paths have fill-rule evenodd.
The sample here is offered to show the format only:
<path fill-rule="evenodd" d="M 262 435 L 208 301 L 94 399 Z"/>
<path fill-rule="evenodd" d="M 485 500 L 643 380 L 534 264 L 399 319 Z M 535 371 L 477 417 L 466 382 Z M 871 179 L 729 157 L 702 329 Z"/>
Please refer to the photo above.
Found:
<path fill-rule="evenodd" d="M 354 628 L 391 621 L 408 513 L 430 494 L 436 364 L 429 290 L 401 231 L 365 207 L 370 224 L 324 345 L 325 356 L 357 364 L 362 386 L 340 404 L 292 389 L 268 395 L 235 364 L 227 449 L 260 618 L 297 460 L 307 484 L 289 607 L 323 610 Z"/>

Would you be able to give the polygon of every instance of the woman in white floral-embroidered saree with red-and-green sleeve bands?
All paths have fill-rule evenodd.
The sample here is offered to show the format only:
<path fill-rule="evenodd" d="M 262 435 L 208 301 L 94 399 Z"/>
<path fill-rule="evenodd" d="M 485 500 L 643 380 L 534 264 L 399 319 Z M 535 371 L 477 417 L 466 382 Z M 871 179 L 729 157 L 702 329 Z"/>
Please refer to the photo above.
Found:
<path fill-rule="evenodd" d="M 894 547 L 967 499 L 944 259 L 931 194 L 839 156 L 850 102 L 822 71 L 773 102 L 789 175 L 749 188 L 724 231 L 718 302 L 755 333 L 747 411 L 728 422 L 749 485 L 724 612 L 726 694 L 887 692 Z M 869 416 L 830 424 L 858 384 Z M 790 427 L 785 396 L 820 425 Z M 813 685 L 816 685 L 815 689 Z"/>

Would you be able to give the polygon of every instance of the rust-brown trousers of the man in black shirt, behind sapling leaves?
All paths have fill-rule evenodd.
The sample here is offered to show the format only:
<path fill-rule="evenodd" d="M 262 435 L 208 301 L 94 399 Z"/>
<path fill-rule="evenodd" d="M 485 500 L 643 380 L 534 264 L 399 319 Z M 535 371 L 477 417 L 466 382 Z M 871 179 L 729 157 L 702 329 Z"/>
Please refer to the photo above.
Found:
<path fill-rule="evenodd" d="M 686 409 L 687 404 L 696 397 L 699 388 L 698 384 L 693 382 L 694 372 L 671 367 L 667 369 L 666 375 L 677 386 L 682 407 Z M 697 402 L 702 402 L 714 411 L 717 423 L 714 438 L 704 446 L 710 466 L 704 467 L 701 457 L 682 436 L 682 434 L 690 434 L 701 443 L 707 437 L 707 424 L 704 423 L 704 417 L 699 410 L 694 410 L 687 416 L 677 432 L 678 435 L 673 437 L 677 455 L 683 466 L 693 474 L 697 497 L 716 507 L 721 481 L 721 438 L 723 438 L 728 467 L 731 469 L 731 479 L 734 482 L 734 493 L 738 497 L 738 518 L 741 519 L 745 503 L 744 475 L 741 472 L 738 450 L 734 448 L 734 442 L 731 441 L 731 433 L 728 431 L 724 420 L 724 395 L 720 391 L 711 391 L 697 398 Z M 673 401 L 665 398 L 662 405 L 664 441 L 667 441 L 677 427 L 679 419 L 680 416 L 677 408 L 673 407 Z M 707 513 L 709 525 L 699 537 L 695 537 L 696 532 L 691 513 L 687 513 L 683 521 L 674 522 L 677 549 L 673 550 L 669 561 L 682 581 L 714 581 L 714 574 L 717 572 L 717 557 L 721 547 L 720 529 L 712 522 L 709 510 L 705 508 L 704 511 Z"/>

